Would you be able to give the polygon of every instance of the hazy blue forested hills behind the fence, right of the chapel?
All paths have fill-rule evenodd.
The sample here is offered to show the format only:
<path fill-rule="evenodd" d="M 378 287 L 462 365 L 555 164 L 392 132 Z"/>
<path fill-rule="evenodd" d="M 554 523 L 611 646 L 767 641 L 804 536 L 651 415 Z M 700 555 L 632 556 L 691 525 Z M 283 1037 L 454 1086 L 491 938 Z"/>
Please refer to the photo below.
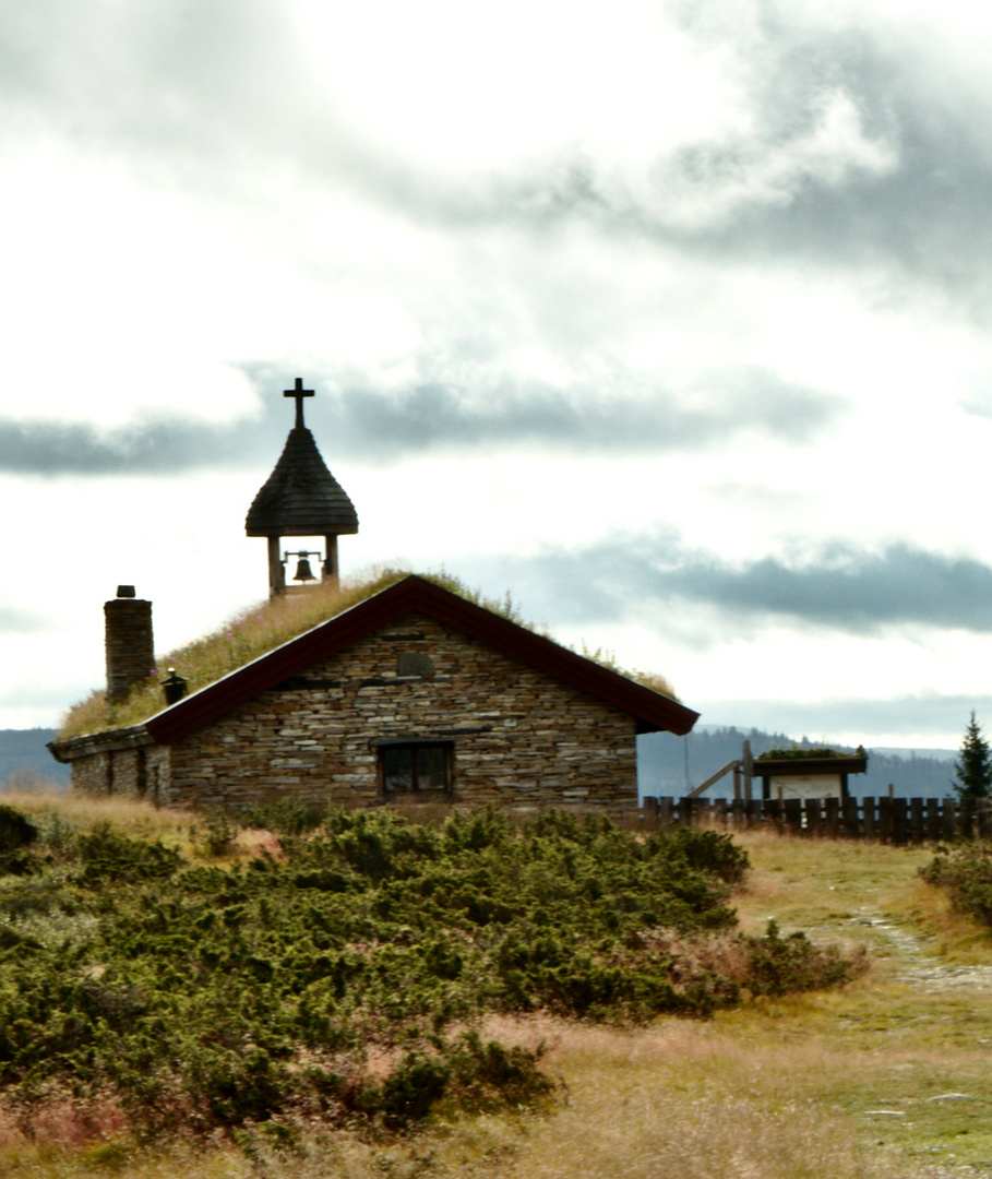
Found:
<path fill-rule="evenodd" d="M 701 729 L 690 732 L 688 737 L 646 733 L 637 738 L 637 784 L 641 797 L 681 798 L 728 762 L 739 758 L 745 740 L 750 742 L 750 751 L 755 757 L 772 749 L 788 749 L 793 744 L 806 749 L 824 744 L 811 742 L 806 737 L 794 740 L 785 733 L 766 733 L 759 729 Z M 851 745 L 832 744 L 831 747 L 854 752 Z M 851 793 L 858 798 L 865 795 L 887 795 L 890 783 L 897 797 L 902 798 L 943 798 L 953 792 L 953 756 L 943 750 L 927 750 L 918 755 L 906 750 L 901 756 L 871 749 L 867 752 L 868 772 L 854 773 L 847 779 Z M 940 753 L 944 756 L 939 756 Z M 729 773 L 706 792 L 707 798 L 733 796 L 733 776 Z"/>

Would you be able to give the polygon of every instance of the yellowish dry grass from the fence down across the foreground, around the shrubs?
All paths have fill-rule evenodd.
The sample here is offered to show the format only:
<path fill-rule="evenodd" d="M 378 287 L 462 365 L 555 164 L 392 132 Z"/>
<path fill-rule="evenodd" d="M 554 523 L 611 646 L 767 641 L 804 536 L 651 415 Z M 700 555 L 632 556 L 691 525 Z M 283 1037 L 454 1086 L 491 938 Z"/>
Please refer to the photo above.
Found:
<path fill-rule="evenodd" d="M 88 802 L 86 805 L 91 805 Z M 132 822 L 140 823 L 141 810 Z M 869 944 L 872 974 L 839 992 L 755 1001 L 703 1021 L 623 1030 L 548 1016 L 491 1017 L 483 1033 L 547 1048 L 560 1107 L 481 1117 L 376 1141 L 304 1129 L 292 1151 L 263 1133 L 172 1144 L 154 1155 L 126 1134 L 80 1151 L 71 1129 L 45 1145 L 9 1140 L 0 1172 L 31 1179 L 910 1179 L 976 1173 L 992 1159 L 992 1003 L 970 990 L 901 982 L 862 913 L 930 930 L 930 951 L 990 960 L 988 946 L 921 885 L 924 849 L 742 838 L 754 863 L 739 908 L 746 928 Z M 886 955 L 890 955 L 886 957 Z M 897 963 L 898 964 L 898 963 Z M 959 1096 L 950 1098 L 948 1094 Z M 964 1096 L 960 1096 L 964 1094 Z M 6 1170 L 5 1170 L 6 1164 Z M 957 1168 L 963 1168 L 958 1171 Z"/>

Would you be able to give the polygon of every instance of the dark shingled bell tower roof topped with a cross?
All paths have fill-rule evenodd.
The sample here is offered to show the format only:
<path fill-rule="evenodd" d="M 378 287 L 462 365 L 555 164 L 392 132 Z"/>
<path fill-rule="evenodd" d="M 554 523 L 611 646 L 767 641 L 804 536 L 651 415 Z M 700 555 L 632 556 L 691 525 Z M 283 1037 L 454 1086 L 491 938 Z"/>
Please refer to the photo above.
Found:
<path fill-rule="evenodd" d="M 276 468 L 245 519 L 249 536 L 322 536 L 358 532 L 358 515 L 346 492 L 328 470 L 313 435 L 303 424 L 303 397 L 312 396 L 297 377 L 296 426 Z"/>

